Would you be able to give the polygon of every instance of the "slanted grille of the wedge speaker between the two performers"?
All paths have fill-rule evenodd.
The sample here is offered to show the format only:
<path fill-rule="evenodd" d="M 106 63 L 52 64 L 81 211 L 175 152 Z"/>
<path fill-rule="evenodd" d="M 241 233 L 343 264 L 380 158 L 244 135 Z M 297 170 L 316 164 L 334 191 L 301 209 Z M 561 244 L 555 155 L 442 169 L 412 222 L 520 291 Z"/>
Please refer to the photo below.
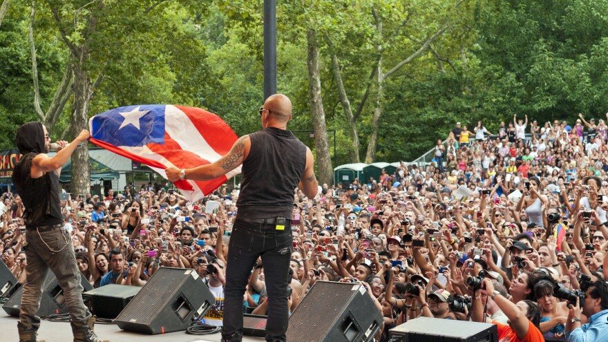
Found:
<path fill-rule="evenodd" d="M 150 324 L 159 310 L 169 306 L 171 289 L 179 289 L 187 280 L 191 269 L 162 267 L 150 278 L 131 303 L 120 313 L 120 317 L 129 317 L 129 321 Z M 149 310 L 141 310 L 147 307 Z"/>

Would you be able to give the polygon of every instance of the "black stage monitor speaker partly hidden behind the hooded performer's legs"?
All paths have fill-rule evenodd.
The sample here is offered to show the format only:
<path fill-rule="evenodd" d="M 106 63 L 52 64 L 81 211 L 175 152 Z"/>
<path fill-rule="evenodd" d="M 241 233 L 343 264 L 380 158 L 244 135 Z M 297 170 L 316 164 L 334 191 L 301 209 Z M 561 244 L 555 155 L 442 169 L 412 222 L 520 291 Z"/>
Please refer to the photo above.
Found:
<path fill-rule="evenodd" d="M 84 291 L 90 291 L 93 289 L 91 283 L 89 283 L 82 273 L 78 272 L 80 276 L 80 284 L 84 288 Z M 23 296 L 23 286 L 19 287 L 15 291 L 8 301 L 2 305 L 4 311 L 10 316 L 19 316 L 19 309 L 21 308 L 21 296 Z M 66 298 L 64 298 L 64 290 L 61 289 L 55 274 L 48 270 L 46 272 L 46 278 L 42 283 L 42 296 L 40 299 L 40 307 L 36 312 L 37 316 L 46 317 L 52 314 L 67 314 L 68 305 L 66 305 Z"/>

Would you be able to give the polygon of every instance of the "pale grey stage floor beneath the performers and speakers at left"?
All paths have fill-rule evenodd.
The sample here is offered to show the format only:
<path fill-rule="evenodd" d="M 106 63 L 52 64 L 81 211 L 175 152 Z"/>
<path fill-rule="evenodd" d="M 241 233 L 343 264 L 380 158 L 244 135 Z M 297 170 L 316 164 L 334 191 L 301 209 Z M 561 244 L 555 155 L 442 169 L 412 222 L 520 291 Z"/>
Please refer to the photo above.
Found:
<path fill-rule="evenodd" d="M 17 317 L 8 316 L 6 312 L 0 310 L 0 332 L 1 341 L 19 341 L 17 334 Z M 115 324 L 96 324 L 95 333 L 102 339 L 109 339 L 111 342 L 218 342 L 222 338 L 219 332 L 212 335 L 190 335 L 185 332 L 171 332 L 169 334 L 146 335 L 135 332 L 125 332 Z M 42 321 L 38 330 L 38 339 L 45 342 L 68 342 L 72 341 L 72 329 L 70 323 Z M 265 341 L 258 337 L 244 336 L 243 341 Z"/>

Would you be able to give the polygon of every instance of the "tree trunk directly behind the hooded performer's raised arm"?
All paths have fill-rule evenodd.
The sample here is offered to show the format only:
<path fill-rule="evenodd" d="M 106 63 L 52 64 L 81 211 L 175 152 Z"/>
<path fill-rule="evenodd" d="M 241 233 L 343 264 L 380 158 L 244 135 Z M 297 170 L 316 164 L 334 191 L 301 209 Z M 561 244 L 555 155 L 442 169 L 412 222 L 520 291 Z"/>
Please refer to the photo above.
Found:
<path fill-rule="evenodd" d="M 74 102 L 72 104 L 72 134 L 77 136 L 87 129 L 88 104 L 93 93 L 91 78 L 88 77 L 82 64 L 88 58 L 83 51 L 80 56 L 73 56 L 72 71 L 74 79 Z M 88 162 L 88 146 L 78 147 L 72 154 L 72 193 L 89 193 L 91 191 L 91 170 Z"/>

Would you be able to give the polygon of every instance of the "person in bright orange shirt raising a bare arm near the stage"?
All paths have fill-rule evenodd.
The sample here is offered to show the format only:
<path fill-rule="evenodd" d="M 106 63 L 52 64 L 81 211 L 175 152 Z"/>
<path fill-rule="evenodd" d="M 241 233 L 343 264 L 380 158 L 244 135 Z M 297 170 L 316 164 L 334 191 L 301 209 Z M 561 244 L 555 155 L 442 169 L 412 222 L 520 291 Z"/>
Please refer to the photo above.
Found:
<path fill-rule="evenodd" d="M 517 304 L 494 289 L 494 284 L 488 278 L 482 280 L 482 286 L 473 297 L 473 321 L 485 322 L 484 304 L 494 301 L 495 304 L 509 318 L 509 325 L 497 321 L 491 323 L 498 327 L 498 340 L 509 342 L 544 342 L 538 325 L 540 323 L 540 309 L 533 301 L 519 301 Z"/>

